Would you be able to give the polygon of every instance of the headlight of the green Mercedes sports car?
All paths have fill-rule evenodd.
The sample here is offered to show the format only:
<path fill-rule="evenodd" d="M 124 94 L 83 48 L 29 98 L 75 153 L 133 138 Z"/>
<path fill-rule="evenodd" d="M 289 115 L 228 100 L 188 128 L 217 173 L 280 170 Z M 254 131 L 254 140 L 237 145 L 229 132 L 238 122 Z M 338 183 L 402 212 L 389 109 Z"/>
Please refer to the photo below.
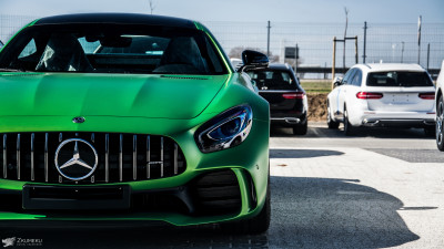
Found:
<path fill-rule="evenodd" d="M 253 112 L 248 105 L 230 108 L 203 124 L 195 132 L 195 142 L 203 153 L 234 147 L 249 136 Z"/>

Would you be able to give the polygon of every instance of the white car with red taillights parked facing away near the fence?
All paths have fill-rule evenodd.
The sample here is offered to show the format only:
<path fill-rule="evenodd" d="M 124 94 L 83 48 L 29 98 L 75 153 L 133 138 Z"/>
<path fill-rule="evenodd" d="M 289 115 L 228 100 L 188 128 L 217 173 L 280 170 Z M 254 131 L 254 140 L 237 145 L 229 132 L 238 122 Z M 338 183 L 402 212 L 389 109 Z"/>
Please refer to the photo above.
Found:
<path fill-rule="evenodd" d="M 435 132 L 435 86 L 417 64 L 357 64 L 327 95 L 327 125 L 351 135 L 359 126 L 421 127 Z"/>

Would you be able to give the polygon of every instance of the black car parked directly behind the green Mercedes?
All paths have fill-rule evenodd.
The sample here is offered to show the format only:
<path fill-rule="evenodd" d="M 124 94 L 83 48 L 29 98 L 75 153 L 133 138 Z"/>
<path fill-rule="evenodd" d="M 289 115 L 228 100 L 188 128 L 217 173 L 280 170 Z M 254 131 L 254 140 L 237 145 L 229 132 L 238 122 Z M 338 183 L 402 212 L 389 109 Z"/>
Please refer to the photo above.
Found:
<path fill-rule="evenodd" d="M 293 69 L 287 64 L 270 64 L 246 73 L 255 81 L 259 94 L 270 103 L 271 124 L 293 127 L 295 135 L 305 135 L 309 104 Z"/>

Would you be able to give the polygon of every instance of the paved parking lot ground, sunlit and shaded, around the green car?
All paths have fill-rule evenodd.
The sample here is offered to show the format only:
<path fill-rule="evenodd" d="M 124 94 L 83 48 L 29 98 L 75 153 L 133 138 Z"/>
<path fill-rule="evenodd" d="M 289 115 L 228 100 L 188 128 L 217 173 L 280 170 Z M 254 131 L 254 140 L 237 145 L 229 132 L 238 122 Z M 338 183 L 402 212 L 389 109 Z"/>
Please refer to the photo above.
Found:
<path fill-rule="evenodd" d="M 273 128 L 272 222 L 261 236 L 218 226 L 16 227 L 0 238 L 32 248 L 444 248 L 444 153 L 421 129 L 359 131 L 324 124 L 306 136 Z M 23 248 L 23 247 L 22 247 Z"/>

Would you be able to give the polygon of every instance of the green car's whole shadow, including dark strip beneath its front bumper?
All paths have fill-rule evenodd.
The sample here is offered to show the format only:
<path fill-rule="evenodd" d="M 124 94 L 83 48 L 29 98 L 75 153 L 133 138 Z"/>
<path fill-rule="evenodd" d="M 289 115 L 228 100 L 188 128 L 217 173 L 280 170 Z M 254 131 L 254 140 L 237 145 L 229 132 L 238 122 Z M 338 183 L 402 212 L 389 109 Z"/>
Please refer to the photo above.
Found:
<path fill-rule="evenodd" d="M 272 219 L 264 235 L 219 226 L 43 226 L 0 229 L 0 238 L 41 239 L 42 248 L 386 248 L 417 240 L 394 196 L 354 179 L 271 177 Z"/>

